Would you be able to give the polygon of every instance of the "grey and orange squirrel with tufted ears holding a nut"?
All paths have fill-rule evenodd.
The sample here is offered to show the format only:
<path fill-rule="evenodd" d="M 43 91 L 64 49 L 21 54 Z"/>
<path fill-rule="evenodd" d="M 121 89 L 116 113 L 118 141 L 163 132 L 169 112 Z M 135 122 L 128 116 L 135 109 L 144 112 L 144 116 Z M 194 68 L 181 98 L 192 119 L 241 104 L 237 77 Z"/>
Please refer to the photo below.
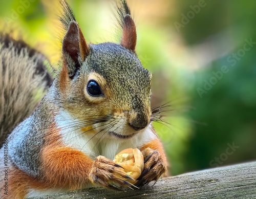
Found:
<path fill-rule="evenodd" d="M 67 2 L 62 0 L 61 5 L 65 14 L 60 21 L 66 35 L 62 64 L 53 81 L 43 64 L 44 56 L 9 36 L 0 37 L 0 74 L 3 81 L 15 80 L 16 86 L 9 93 L 10 88 L 2 86 L 4 97 L 14 98 L 15 92 L 23 96 L 12 99 L 2 110 L 6 117 L 1 121 L 0 150 L 4 199 L 95 185 L 137 188 L 167 172 L 163 146 L 152 125 L 158 113 L 150 102 L 152 74 L 136 55 L 136 26 L 125 0 L 117 8 L 122 28 L 118 44 L 88 44 Z M 32 84 L 40 91 L 49 87 L 38 106 L 31 102 Z M 17 106 L 19 110 L 14 112 Z M 15 119 L 8 123 L 9 117 Z M 135 184 L 113 162 L 126 148 L 138 148 L 144 156 L 144 170 Z"/>

